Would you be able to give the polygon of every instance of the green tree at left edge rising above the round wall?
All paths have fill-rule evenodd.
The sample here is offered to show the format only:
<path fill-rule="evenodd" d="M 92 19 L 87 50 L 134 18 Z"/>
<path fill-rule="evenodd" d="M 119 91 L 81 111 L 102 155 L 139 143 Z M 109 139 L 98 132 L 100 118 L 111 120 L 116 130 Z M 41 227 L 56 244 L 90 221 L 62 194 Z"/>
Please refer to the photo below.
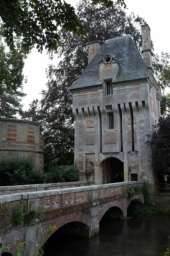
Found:
<path fill-rule="evenodd" d="M 0 117 L 12 118 L 22 107 L 24 58 L 21 42 L 15 38 L 16 52 L 10 52 L 4 40 L 4 27 L 0 25 Z"/>

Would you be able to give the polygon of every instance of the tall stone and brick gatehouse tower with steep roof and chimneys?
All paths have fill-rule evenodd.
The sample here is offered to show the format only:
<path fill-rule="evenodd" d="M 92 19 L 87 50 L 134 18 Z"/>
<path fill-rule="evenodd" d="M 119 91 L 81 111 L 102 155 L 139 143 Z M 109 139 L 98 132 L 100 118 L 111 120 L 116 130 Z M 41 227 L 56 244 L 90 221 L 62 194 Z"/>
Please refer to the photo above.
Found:
<path fill-rule="evenodd" d="M 130 35 L 102 46 L 89 44 L 89 64 L 70 88 L 80 180 L 106 184 L 147 179 L 154 184 L 145 142 L 160 117 L 161 92 L 153 75 L 147 24 L 142 26 L 142 54 Z"/>

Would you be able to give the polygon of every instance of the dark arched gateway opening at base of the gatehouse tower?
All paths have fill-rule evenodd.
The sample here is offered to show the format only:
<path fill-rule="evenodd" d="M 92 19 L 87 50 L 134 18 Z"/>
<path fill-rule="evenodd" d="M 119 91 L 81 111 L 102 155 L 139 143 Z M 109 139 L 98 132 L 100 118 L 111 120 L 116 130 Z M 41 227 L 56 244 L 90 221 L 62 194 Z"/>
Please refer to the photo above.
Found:
<path fill-rule="evenodd" d="M 101 163 L 102 183 L 115 183 L 124 181 L 124 163 L 115 157 L 110 157 Z M 119 177 L 119 178 L 117 178 Z"/>

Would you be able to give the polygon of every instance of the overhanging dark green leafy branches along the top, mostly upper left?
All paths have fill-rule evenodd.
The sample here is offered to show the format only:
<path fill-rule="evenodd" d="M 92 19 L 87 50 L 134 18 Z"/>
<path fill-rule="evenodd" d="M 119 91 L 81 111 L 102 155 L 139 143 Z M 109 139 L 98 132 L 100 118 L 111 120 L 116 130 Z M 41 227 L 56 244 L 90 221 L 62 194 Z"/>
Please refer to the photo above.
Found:
<path fill-rule="evenodd" d="M 92 0 L 113 6 L 111 0 Z M 123 0 L 117 4 L 126 6 Z M 5 27 L 5 38 L 10 50 L 15 49 L 13 33 L 22 36 L 22 47 L 28 53 L 37 44 L 38 51 L 45 49 L 57 52 L 59 45 L 58 27 L 77 35 L 85 35 L 85 27 L 75 14 L 74 8 L 62 0 L 1 0 L 0 19 Z"/>

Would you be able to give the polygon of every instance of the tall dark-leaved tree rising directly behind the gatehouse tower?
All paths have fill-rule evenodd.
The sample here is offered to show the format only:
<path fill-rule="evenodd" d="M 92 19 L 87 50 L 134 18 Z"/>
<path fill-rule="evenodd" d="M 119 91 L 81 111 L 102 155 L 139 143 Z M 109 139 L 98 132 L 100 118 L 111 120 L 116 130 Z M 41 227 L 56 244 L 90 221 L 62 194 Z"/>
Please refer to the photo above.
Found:
<path fill-rule="evenodd" d="M 134 14 L 127 16 L 119 5 L 108 9 L 102 5 L 90 5 L 88 0 L 79 2 L 77 16 L 86 28 L 87 37 L 79 37 L 61 28 L 61 45 L 58 49 L 61 60 L 57 68 L 49 66 L 47 70 L 47 90 L 42 92 L 39 106 L 36 102 L 38 111 L 35 111 L 34 105 L 34 109 L 30 106 L 30 110 L 22 114 L 30 119 L 36 116 L 37 121 L 42 123 L 45 152 L 48 159 L 54 159 L 57 164 L 61 164 L 59 159 L 63 163 L 73 162 L 74 120 L 69 88 L 88 64 L 87 43 L 95 40 L 103 43 L 107 39 L 130 34 L 140 51 L 142 40 L 138 28 L 145 23 L 144 19 Z M 61 154 L 64 158 L 61 158 Z"/>

